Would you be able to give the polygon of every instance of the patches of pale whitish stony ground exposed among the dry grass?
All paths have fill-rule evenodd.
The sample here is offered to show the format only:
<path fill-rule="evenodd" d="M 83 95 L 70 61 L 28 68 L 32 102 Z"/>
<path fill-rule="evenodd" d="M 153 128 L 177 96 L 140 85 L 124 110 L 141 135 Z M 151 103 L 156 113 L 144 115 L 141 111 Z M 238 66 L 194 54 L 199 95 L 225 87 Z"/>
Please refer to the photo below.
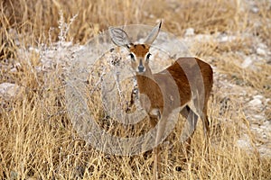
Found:
<path fill-rule="evenodd" d="M 246 1 L 249 11 L 252 14 L 257 14 L 259 9 L 254 1 Z M 270 3 L 271 4 L 271 3 Z M 240 8 L 240 11 L 242 8 Z M 271 20 L 266 24 L 270 26 Z M 255 26 L 258 26 L 258 22 L 254 22 Z M 271 28 L 271 27 L 267 27 Z M 13 30 L 10 30 L 13 31 Z M 19 36 L 16 34 L 14 36 Z M 179 40 L 185 44 L 188 49 L 197 47 L 199 44 L 215 43 L 217 45 L 223 45 L 235 40 L 247 40 L 250 44 L 249 48 L 236 49 L 234 51 L 226 51 L 221 56 L 225 56 L 226 53 L 235 53 L 238 59 L 233 63 L 236 64 L 240 69 L 250 69 L 254 73 L 260 73 L 263 65 L 270 66 L 271 64 L 271 49 L 268 45 L 252 33 L 238 34 L 235 32 L 220 32 L 217 31 L 213 34 L 197 34 L 192 28 L 185 31 L 183 37 L 179 37 Z M 38 73 L 49 72 L 55 66 L 61 66 L 66 68 L 70 65 L 70 60 L 74 52 L 88 49 L 88 46 L 72 45 L 71 42 L 62 41 L 60 43 L 52 44 L 51 47 L 30 47 L 28 49 L 20 46 L 22 49 L 17 50 L 18 57 L 26 58 L 31 57 L 33 53 L 40 55 L 41 64 L 33 68 L 33 71 Z M 170 47 L 167 47 L 170 48 Z M 60 53 L 61 52 L 61 53 Z M 193 54 L 193 53 L 192 53 Z M 227 56 L 225 56 L 227 57 Z M 211 60 L 210 57 L 210 64 Z M 232 59 L 231 59 L 232 60 Z M 5 59 L 1 62 L 0 68 L 3 72 L 16 73 L 20 69 L 20 63 L 14 63 L 13 59 Z M 259 92 L 249 85 L 243 85 L 243 82 L 238 80 L 229 79 L 229 76 L 221 71 L 220 67 L 217 67 L 216 63 L 212 64 L 214 68 L 214 90 L 219 94 L 220 103 L 231 103 L 235 102 L 239 104 L 239 107 L 244 112 L 245 119 L 248 120 L 248 126 L 251 133 L 255 135 L 255 142 L 257 150 L 262 156 L 271 156 L 271 99 L 265 96 L 262 92 Z M 234 76 L 234 75 L 233 75 Z M 266 76 L 267 80 L 271 85 L 271 75 Z M 271 86 L 267 88 L 271 88 Z M 6 107 L 6 103 L 15 101 L 18 98 L 18 94 L 22 94 L 25 90 L 23 85 L 17 85 L 16 83 L 4 82 L 0 84 L 0 98 L 2 99 L 2 107 Z M 243 148 L 251 148 L 250 135 L 244 133 L 238 140 L 238 145 Z"/>

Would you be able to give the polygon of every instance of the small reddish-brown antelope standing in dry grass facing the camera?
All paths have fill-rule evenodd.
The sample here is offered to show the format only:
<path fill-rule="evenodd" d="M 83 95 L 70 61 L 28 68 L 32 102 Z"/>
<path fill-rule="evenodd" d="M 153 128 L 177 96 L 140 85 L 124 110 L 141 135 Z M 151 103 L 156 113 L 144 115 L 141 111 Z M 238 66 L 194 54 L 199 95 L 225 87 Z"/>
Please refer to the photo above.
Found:
<path fill-rule="evenodd" d="M 206 143 L 209 142 L 210 122 L 207 116 L 207 103 L 213 83 L 212 68 L 199 58 L 178 58 L 172 66 L 153 73 L 149 67 L 150 48 L 161 29 L 158 23 L 145 38 L 145 42 L 133 43 L 126 31 L 120 28 L 109 28 L 113 43 L 125 47 L 130 56 L 130 63 L 138 85 L 139 101 L 145 109 L 152 127 L 159 124 L 155 137 L 157 145 L 163 138 L 167 118 L 174 109 L 180 108 L 190 130 L 186 143 L 190 148 L 193 131 L 198 118 L 201 118 Z M 158 123 L 158 122 L 161 123 Z M 154 179 L 159 178 L 159 148 L 154 148 Z"/>

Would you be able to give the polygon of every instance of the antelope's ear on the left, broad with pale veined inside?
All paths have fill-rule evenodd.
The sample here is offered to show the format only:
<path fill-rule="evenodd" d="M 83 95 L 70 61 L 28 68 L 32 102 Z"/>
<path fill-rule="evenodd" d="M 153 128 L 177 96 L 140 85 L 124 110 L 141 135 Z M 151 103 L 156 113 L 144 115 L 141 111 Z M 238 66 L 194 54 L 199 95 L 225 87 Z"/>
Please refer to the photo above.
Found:
<path fill-rule="evenodd" d="M 109 27 L 109 35 L 117 46 L 127 47 L 131 43 L 126 31 L 120 28 Z"/>

